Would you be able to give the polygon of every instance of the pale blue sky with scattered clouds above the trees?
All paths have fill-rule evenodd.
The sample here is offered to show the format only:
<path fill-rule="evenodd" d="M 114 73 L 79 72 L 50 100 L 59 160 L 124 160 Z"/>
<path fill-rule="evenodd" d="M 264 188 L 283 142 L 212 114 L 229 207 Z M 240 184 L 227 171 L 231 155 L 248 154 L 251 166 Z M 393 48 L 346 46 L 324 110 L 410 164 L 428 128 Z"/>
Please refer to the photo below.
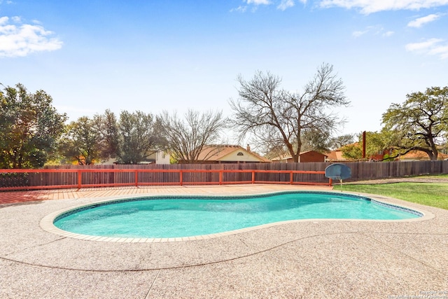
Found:
<path fill-rule="evenodd" d="M 300 91 L 322 63 L 351 101 L 339 134 L 380 130 L 392 102 L 448 85 L 448 0 L 0 0 L 0 83 L 45 90 L 70 120 L 230 116 L 239 74 Z"/>

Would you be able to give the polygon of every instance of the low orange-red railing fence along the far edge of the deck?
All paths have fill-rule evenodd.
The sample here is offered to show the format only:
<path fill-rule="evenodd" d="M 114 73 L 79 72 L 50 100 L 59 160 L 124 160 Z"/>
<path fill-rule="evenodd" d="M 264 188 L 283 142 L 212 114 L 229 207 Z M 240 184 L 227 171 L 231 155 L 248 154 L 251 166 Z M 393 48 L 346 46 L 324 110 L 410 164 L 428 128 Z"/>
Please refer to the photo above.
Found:
<path fill-rule="evenodd" d="M 282 183 L 331 186 L 332 181 L 322 183 L 324 171 L 264 170 L 264 169 L 0 169 L 0 174 L 29 176 L 27 186 L 0 186 L 0 190 L 57 189 L 118 186 L 169 186 L 169 185 L 223 185 L 237 183 Z M 86 178 L 88 174 L 93 174 Z M 109 174 L 107 176 L 106 174 Z M 112 176 L 111 176 L 111 175 Z M 127 174 L 127 175 L 122 175 Z M 149 174 L 149 175 L 148 175 Z M 163 181 L 160 174 L 169 174 Z M 186 174 L 190 174 L 185 179 Z M 209 174 L 209 176 L 195 176 Z M 239 179 L 226 180 L 226 174 L 241 174 Z M 275 180 L 267 180 L 259 174 L 279 174 Z M 283 176 L 281 176 L 283 174 Z M 297 180 L 297 174 L 318 174 L 316 181 Z M 56 176 L 51 178 L 50 176 Z M 60 183 L 63 181 L 64 183 Z M 83 183 L 86 181 L 86 183 Z M 112 181 L 112 182 L 111 182 Z"/>

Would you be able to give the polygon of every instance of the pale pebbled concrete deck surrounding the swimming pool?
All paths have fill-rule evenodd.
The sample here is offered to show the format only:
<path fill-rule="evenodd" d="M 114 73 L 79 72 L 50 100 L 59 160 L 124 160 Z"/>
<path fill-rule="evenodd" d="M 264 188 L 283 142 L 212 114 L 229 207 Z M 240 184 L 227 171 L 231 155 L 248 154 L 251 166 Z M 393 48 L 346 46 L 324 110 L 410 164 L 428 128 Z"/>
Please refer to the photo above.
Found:
<path fill-rule="evenodd" d="M 72 239 L 39 225 L 54 211 L 119 197 L 304 189 L 330 190 L 237 185 L 0 193 L 0 298 L 448 298 L 448 211 L 388 197 L 370 196 L 426 217 L 297 221 L 158 243 Z"/>

